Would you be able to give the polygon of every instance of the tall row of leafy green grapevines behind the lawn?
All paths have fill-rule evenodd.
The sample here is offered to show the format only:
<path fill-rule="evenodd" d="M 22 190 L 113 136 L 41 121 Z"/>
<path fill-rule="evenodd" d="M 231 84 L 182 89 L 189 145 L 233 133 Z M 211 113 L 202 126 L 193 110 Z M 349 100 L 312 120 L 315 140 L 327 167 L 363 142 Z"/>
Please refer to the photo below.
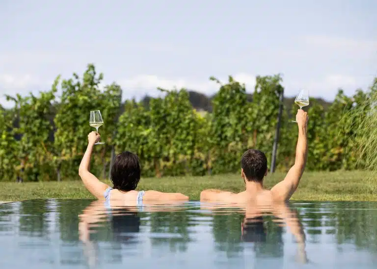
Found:
<path fill-rule="evenodd" d="M 76 73 L 69 79 L 57 76 L 51 90 L 39 96 L 6 96 L 14 106 L 0 107 L 0 180 L 77 179 L 87 134 L 94 130 L 89 126 L 89 111 L 96 109 L 104 118 L 99 133 L 106 144 L 95 147 L 91 169 L 103 178 L 108 177 L 113 153 L 124 150 L 139 156 L 144 177 L 237 172 L 242 153 L 251 147 L 266 152 L 270 160 L 279 95 L 284 91 L 281 76 L 257 76 L 252 95 L 232 76 L 226 83 L 210 79 L 219 90 L 207 101 L 199 98 L 204 109 L 194 108 L 195 94 L 186 89 L 159 88 L 162 97 L 122 103 L 121 87 L 112 83 L 101 88 L 103 74 L 92 64 L 81 77 Z M 376 90 L 374 84 L 352 97 L 338 90 L 331 103 L 311 98 L 308 170 L 365 167 L 353 147 L 355 130 L 374 111 L 365 103 Z M 291 120 L 297 108 L 292 98 L 285 99 L 278 171 L 287 171 L 295 161 L 297 126 Z M 358 113 L 352 116 L 349 112 L 355 109 Z"/>

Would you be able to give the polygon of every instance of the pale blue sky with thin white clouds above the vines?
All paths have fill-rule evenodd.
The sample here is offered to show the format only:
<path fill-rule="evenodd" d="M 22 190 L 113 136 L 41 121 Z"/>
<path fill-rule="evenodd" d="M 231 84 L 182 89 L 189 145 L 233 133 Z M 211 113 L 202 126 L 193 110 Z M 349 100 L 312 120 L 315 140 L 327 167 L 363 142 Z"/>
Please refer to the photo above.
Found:
<path fill-rule="evenodd" d="M 252 93 L 256 75 L 281 73 L 285 96 L 332 100 L 377 75 L 376 14 L 376 0 L 0 0 L 0 104 L 88 63 L 124 99 L 212 95 L 209 77 L 228 75 Z"/>

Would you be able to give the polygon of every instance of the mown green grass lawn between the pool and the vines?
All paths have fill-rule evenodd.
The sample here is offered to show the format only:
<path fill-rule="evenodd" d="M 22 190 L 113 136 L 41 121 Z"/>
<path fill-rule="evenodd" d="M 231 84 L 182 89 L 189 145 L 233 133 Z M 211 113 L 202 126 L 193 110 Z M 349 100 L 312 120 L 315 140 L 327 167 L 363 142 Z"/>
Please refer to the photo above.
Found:
<path fill-rule="evenodd" d="M 265 178 L 271 188 L 285 173 L 276 172 Z M 0 183 L 0 201 L 19 201 L 35 198 L 93 198 L 80 178 L 63 182 Z M 106 181 L 108 184 L 110 182 Z M 142 178 L 138 190 L 181 192 L 198 200 L 204 189 L 215 188 L 240 192 L 244 184 L 239 174 L 203 177 Z M 305 172 L 293 200 L 359 200 L 377 201 L 377 179 L 364 171 Z"/>

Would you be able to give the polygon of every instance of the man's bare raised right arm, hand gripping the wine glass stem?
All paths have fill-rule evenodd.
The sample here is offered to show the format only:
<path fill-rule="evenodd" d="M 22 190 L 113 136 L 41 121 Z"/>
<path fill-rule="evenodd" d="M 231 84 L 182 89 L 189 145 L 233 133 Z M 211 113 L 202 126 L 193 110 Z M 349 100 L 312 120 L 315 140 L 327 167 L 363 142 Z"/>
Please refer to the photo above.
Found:
<path fill-rule="evenodd" d="M 308 141 L 306 136 L 308 119 L 307 112 L 298 109 L 296 114 L 296 122 L 298 125 L 296 160 L 294 166 L 288 171 L 284 180 L 272 187 L 271 192 L 276 200 L 289 200 L 296 191 L 304 172 L 308 153 Z"/>

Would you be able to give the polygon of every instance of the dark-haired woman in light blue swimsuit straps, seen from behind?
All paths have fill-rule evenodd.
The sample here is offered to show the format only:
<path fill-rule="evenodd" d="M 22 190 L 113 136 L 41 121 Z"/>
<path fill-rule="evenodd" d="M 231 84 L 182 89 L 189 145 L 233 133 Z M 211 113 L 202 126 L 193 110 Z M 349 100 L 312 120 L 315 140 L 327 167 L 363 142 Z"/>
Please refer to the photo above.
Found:
<path fill-rule="evenodd" d="M 140 180 L 140 163 L 138 157 L 129 151 L 122 152 L 115 157 L 111 169 L 111 182 L 113 187 L 98 180 L 89 171 L 90 158 L 93 147 L 100 140 L 97 132 L 88 135 L 88 147 L 82 157 L 79 175 L 86 189 L 99 199 L 135 201 L 161 201 L 161 200 L 188 200 L 188 196 L 180 193 L 162 193 L 157 191 L 135 191 Z"/>

